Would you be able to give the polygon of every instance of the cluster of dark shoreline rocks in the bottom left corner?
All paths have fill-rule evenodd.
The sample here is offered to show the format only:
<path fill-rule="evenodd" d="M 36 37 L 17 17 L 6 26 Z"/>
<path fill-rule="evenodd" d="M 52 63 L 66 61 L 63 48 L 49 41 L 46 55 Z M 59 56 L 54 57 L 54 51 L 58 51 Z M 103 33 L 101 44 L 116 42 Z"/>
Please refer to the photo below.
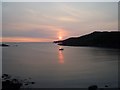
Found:
<path fill-rule="evenodd" d="M 34 84 L 35 82 L 30 82 L 29 79 L 17 79 L 13 78 L 11 75 L 2 75 L 2 90 L 20 90 L 21 87 Z"/>

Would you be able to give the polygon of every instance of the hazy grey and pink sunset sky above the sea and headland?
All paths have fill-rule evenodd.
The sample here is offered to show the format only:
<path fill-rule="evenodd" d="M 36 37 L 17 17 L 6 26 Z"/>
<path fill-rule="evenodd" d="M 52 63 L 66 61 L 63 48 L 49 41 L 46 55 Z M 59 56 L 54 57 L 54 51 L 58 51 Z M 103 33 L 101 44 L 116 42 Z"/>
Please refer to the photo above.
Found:
<path fill-rule="evenodd" d="M 3 42 L 52 42 L 118 30 L 118 2 L 3 2 Z"/>

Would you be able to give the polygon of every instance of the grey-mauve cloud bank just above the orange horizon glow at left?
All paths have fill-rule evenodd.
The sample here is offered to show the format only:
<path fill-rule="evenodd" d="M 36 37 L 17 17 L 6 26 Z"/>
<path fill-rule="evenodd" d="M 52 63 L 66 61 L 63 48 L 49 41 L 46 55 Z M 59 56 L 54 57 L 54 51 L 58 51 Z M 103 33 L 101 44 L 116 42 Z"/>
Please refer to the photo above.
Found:
<path fill-rule="evenodd" d="M 3 37 L 37 37 L 37 38 L 57 38 L 58 33 L 65 37 L 68 31 L 59 26 L 42 25 L 31 23 L 9 23 L 3 25 Z"/>

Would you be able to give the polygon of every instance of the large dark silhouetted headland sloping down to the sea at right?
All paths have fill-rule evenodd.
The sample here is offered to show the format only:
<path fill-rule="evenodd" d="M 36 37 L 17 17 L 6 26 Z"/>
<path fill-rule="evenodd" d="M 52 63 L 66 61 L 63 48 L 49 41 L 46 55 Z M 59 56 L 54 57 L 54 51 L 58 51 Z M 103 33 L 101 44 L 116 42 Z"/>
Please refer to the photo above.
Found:
<path fill-rule="evenodd" d="M 120 32 L 99 32 L 95 31 L 80 37 L 71 37 L 65 40 L 54 41 L 58 45 L 63 46 L 91 46 L 91 47 L 105 47 L 105 48 L 119 48 L 120 49 Z"/>

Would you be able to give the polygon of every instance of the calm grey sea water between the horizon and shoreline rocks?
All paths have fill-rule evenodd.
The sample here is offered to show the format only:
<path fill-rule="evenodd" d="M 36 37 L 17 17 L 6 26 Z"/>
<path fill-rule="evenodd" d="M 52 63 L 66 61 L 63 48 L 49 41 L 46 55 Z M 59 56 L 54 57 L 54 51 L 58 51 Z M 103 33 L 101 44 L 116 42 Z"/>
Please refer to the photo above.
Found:
<path fill-rule="evenodd" d="M 31 77 L 35 88 L 118 86 L 118 50 L 68 47 L 53 43 L 18 43 L 3 47 L 3 73 Z"/>

